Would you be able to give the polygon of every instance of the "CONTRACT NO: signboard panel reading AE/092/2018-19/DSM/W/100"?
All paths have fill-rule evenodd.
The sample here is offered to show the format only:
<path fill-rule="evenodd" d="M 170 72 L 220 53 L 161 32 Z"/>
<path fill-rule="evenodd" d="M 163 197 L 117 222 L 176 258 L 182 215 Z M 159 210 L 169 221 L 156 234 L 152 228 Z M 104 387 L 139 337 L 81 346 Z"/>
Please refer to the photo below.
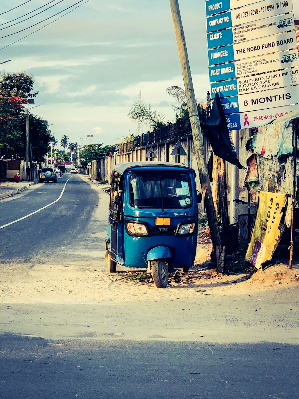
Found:
<path fill-rule="evenodd" d="M 291 0 L 264 0 L 247 7 L 231 10 L 224 14 L 217 14 L 207 18 L 207 32 L 231 28 L 232 26 L 247 24 L 263 18 L 275 17 L 293 11 Z"/>

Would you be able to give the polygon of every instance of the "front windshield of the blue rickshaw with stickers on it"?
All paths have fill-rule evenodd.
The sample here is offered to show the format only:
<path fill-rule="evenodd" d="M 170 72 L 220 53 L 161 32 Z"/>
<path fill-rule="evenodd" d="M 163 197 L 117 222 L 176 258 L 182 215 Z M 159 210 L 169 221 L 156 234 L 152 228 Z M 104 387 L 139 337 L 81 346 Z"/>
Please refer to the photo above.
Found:
<path fill-rule="evenodd" d="M 130 178 L 130 205 L 134 207 L 190 207 L 191 192 L 191 178 L 185 173 L 138 172 Z"/>

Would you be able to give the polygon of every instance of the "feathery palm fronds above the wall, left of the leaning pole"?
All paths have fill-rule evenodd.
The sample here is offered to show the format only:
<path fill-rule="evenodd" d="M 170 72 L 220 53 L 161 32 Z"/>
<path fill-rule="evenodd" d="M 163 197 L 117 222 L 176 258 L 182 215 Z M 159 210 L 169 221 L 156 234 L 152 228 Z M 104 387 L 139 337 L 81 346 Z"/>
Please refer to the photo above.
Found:
<path fill-rule="evenodd" d="M 165 119 L 165 115 L 153 111 L 150 106 L 146 107 L 142 102 L 133 104 L 133 107 L 128 113 L 128 117 L 135 122 L 148 124 L 154 131 L 166 126 L 166 123 L 163 120 Z"/>

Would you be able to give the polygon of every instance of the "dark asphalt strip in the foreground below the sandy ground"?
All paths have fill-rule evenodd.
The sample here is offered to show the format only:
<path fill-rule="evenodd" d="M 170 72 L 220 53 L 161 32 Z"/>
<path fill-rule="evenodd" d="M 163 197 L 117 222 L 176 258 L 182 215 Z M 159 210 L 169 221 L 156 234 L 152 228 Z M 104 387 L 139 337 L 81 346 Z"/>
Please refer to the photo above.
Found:
<path fill-rule="evenodd" d="M 1 337 L 1 399 L 298 399 L 296 346 Z M 290 368 L 290 365 L 292 367 Z"/>

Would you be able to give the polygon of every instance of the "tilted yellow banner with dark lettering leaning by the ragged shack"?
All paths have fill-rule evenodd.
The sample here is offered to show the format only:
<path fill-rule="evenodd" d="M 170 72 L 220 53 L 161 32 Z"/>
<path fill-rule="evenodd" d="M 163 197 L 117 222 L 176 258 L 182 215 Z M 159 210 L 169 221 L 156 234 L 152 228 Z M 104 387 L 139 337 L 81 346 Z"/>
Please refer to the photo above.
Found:
<path fill-rule="evenodd" d="M 256 221 L 245 255 L 246 261 L 257 269 L 262 269 L 262 264 L 272 259 L 279 243 L 282 233 L 279 223 L 285 201 L 285 194 L 260 192 Z"/>

